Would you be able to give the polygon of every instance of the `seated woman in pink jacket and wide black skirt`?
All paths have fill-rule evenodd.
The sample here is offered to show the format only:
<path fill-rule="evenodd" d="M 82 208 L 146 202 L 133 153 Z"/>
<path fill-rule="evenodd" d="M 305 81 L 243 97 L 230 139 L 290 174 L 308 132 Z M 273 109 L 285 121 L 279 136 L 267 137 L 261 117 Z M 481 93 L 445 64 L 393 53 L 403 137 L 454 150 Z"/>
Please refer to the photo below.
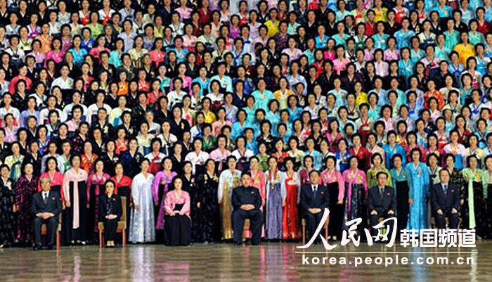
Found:
<path fill-rule="evenodd" d="M 174 177 L 173 190 L 164 199 L 164 244 L 189 245 L 191 240 L 190 195 L 181 190 L 183 179 Z"/>

